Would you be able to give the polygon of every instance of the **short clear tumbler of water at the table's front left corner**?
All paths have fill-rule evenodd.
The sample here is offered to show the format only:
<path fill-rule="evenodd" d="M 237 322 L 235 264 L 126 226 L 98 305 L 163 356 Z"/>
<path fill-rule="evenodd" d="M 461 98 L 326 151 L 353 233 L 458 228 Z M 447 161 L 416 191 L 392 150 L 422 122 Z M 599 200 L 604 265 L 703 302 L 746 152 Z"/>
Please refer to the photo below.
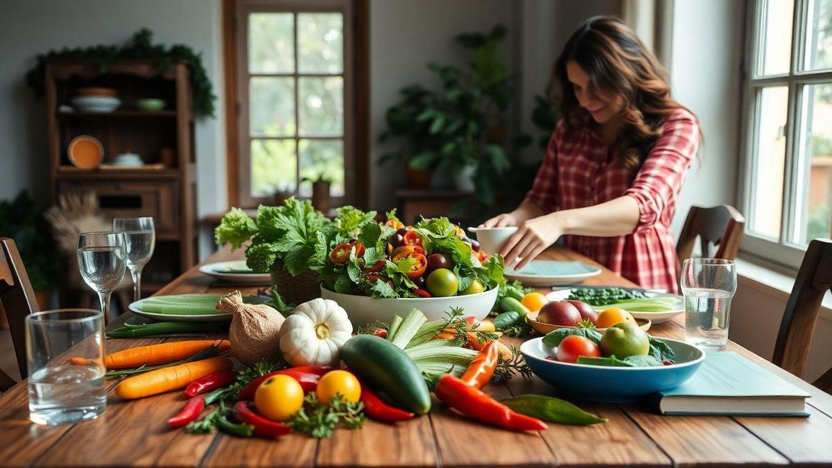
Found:
<path fill-rule="evenodd" d="M 106 409 L 103 313 L 42 311 L 26 317 L 29 419 L 55 426 Z"/>

